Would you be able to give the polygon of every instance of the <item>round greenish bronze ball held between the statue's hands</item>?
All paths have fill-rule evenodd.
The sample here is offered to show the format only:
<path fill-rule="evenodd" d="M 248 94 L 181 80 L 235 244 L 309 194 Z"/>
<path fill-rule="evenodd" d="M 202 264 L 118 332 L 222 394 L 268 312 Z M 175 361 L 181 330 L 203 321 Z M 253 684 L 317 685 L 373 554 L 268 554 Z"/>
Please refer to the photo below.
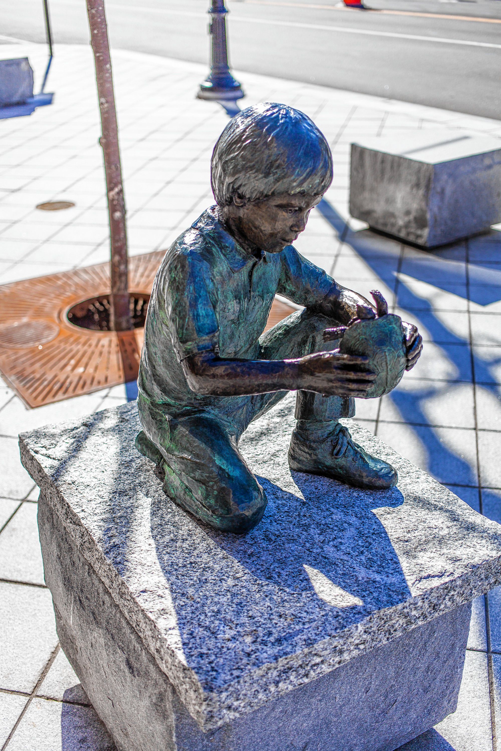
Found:
<path fill-rule="evenodd" d="M 352 321 L 340 342 L 343 354 L 364 354 L 367 369 L 376 373 L 365 399 L 389 394 L 400 383 L 406 369 L 406 346 L 402 319 L 388 313 L 379 318 Z"/>

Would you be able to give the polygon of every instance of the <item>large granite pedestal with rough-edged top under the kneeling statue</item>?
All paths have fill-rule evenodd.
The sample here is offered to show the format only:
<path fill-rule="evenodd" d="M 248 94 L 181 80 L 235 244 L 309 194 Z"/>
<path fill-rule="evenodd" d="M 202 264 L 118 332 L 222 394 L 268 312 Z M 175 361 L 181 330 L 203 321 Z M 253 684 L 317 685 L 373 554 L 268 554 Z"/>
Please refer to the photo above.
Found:
<path fill-rule="evenodd" d="M 398 487 L 291 476 L 293 411 L 243 436 L 269 504 L 242 536 L 164 496 L 134 403 L 20 437 L 62 647 L 119 749 L 392 751 L 454 711 L 501 526 L 352 421 Z"/>

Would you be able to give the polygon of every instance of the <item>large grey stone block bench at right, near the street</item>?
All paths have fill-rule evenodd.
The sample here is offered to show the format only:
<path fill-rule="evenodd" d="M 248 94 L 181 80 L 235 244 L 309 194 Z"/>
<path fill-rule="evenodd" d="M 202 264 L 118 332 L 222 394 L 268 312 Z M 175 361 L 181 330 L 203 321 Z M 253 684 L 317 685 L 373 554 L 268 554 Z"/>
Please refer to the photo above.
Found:
<path fill-rule="evenodd" d="M 352 143 L 349 210 L 426 248 L 501 222 L 501 140 L 415 131 Z"/>

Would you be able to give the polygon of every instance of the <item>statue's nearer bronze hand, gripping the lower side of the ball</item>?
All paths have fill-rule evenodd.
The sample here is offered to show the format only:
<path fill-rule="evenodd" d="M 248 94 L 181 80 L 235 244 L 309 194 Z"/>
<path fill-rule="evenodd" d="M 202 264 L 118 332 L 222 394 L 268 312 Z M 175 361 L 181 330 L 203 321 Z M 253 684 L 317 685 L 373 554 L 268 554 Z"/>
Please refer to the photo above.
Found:
<path fill-rule="evenodd" d="M 364 370 L 368 357 L 355 354 L 315 352 L 298 360 L 297 388 L 317 391 L 324 397 L 361 397 L 369 391 L 376 373 Z"/>

